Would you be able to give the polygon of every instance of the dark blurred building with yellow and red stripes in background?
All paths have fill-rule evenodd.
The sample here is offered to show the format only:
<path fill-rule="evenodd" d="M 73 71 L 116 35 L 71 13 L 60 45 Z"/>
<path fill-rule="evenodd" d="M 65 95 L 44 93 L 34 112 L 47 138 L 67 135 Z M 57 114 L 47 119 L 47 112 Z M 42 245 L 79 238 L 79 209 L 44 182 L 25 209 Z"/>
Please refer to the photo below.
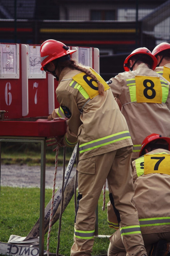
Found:
<path fill-rule="evenodd" d="M 1 0 L 0 42 L 55 39 L 100 50 L 100 75 L 123 72 L 138 47 L 170 43 L 170 0 Z"/>

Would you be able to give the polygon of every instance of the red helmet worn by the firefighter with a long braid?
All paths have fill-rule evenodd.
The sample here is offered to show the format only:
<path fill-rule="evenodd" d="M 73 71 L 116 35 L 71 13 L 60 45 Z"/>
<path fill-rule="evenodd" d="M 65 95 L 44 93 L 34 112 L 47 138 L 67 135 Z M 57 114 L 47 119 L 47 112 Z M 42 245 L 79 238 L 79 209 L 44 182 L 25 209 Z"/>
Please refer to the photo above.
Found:
<path fill-rule="evenodd" d="M 77 50 L 70 50 L 65 44 L 53 39 L 46 40 L 40 47 L 41 70 L 50 61 L 72 54 Z"/>

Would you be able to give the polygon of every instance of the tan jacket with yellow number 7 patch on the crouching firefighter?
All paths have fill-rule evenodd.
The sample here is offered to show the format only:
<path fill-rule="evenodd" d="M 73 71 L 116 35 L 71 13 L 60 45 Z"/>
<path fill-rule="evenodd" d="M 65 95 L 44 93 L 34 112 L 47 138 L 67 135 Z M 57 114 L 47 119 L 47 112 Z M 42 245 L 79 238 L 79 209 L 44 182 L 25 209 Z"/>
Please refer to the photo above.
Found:
<path fill-rule="evenodd" d="M 155 149 L 133 164 L 133 204 L 138 211 L 142 234 L 170 231 L 170 151 Z M 118 228 L 113 207 L 108 203 L 108 225 Z"/>

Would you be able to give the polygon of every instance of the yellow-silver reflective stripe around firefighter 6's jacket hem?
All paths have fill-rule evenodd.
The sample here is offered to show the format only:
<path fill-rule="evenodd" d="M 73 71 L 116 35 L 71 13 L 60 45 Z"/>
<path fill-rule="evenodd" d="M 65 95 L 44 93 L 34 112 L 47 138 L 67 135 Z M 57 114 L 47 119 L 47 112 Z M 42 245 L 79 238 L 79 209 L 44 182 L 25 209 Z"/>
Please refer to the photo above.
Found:
<path fill-rule="evenodd" d="M 123 139 L 124 137 L 127 137 L 127 136 L 130 138 L 130 133 L 129 132 L 125 132 L 125 133 L 122 132 L 122 133 L 120 133 L 118 135 L 112 134 L 111 136 L 108 136 L 108 138 L 104 137 L 104 138 L 98 139 L 95 142 L 93 142 L 93 141 L 88 142 L 84 146 L 80 145 L 79 150 L 82 151 L 82 150 L 86 150 L 86 149 L 89 149 L 89 148 L 95 148 L 95 147 L 98 147 L 98 146 L 101 147 L 101 146 L 103 146 L 103 144 L 109 144 L 109 143 L 114 142 L 114 140 Z"/>

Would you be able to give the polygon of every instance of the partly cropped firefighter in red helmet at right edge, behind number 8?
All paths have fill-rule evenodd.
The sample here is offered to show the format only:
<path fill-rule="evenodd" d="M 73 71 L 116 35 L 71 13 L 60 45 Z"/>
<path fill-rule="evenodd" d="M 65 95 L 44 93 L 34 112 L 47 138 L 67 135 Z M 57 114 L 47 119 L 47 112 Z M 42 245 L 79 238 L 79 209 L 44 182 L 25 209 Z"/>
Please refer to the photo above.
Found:
<path fill-rule="evenodd" d="M 166 42 L 158 44 L 152 54 L 157 58 L 155 72 L 170 82 L 170 44 Z"/>

